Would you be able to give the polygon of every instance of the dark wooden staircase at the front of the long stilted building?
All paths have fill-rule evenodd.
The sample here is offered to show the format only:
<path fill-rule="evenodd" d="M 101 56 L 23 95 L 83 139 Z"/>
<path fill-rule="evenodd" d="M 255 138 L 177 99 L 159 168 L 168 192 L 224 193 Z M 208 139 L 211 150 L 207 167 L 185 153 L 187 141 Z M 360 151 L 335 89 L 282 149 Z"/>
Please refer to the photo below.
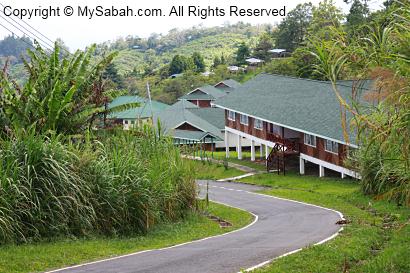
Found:
<path fill-rule="evenodd" d="M 272 151 L 266 159 L 266 171 L 276 169 L 277 173 L 283 172 L 285 175 L 286 158 L 291 155 L 299 154 L 299 142 L 287 139 L 281 139 L 275 142 Z"/>

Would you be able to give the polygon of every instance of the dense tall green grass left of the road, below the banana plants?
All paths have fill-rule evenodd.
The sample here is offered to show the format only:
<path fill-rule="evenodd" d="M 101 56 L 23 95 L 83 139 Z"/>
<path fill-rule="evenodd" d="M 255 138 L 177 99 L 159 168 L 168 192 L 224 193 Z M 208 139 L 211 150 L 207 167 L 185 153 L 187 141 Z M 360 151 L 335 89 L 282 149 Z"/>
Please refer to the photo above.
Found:
<path fill-rule="evenodd" d="M 141 233 L 193 207 L 189 168 L 153 130 L 60 138 L 0 140 L 0 243 Z"/>

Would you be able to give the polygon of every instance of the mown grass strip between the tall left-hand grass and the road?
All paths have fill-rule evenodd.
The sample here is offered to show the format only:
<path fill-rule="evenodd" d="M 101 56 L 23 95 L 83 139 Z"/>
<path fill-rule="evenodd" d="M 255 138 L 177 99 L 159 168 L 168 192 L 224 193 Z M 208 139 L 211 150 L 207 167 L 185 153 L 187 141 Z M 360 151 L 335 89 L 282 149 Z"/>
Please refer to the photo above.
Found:
<path fill-rule="evenodd" d="M 164 224 L 142 236 L 126 238 L 65 239 L 0 247 L 0 272 L 38 272 L 136 251 L 162 248 L 243 227 L 253 216 L 242 210 L 211 203 L 209 212 L 233 224 L 219 225 L 192 214 L 179 223 Z"/>

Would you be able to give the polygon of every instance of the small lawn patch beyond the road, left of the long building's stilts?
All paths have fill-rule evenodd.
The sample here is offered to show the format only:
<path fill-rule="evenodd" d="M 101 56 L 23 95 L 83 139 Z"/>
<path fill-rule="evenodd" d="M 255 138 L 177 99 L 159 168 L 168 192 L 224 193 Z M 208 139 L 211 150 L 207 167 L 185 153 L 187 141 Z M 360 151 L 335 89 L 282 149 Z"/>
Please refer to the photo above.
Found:
<path fill-rule="evenodd" d="M 195 168 L 196 179 L 217 180 L 245 174 L 244 172 L 231 167 L 225 170 L 225 167 L 222 164 L 217 164 L 210 161 L 188 161 L 192 164 L 192 167 Z"/>

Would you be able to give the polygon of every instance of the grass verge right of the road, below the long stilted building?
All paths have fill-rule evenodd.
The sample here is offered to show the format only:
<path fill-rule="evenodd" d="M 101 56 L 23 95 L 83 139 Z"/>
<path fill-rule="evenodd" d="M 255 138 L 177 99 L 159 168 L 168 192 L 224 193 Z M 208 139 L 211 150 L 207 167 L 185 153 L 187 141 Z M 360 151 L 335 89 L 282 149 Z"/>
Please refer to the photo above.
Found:
<path fill-rule="evenodd" d="M 257 272 L 410 272 L 410 208 L 364 196 L 354 180 L 290 173 L 241 181 L 271 186 L 265 194 L 336 209 L 351 221 L 335 239 Z"/>

